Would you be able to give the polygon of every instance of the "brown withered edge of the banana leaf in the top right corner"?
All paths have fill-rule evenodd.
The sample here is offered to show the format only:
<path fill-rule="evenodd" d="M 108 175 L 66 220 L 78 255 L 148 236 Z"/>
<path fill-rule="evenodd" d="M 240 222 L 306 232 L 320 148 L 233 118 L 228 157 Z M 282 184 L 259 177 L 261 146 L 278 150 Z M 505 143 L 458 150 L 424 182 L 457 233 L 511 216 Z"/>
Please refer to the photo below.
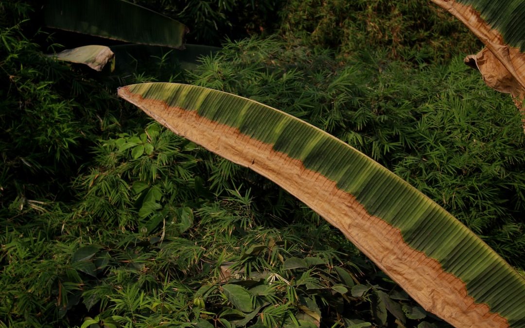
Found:
<path fill-rule="evenodd" d="M 510 93 L 516 107 L 525 115 L 525 54 L 520 49 L 507 45 L 503 36 L 492 29 L 471 6 L 454 0 L 432 2 L 456 16 L 485 44 L 485 48 L 477 55 L 465 58 L 466 64 L 480 71 L 487 86 Z M 522 123 L 525 132 L 525 117 L 522 118 Z"/>

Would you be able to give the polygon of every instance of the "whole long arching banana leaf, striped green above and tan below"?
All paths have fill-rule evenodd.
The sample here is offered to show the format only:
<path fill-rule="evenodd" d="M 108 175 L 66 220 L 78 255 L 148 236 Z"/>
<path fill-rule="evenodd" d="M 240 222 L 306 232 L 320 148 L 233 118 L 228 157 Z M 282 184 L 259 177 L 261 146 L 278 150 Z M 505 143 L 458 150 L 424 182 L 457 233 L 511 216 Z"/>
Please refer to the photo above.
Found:
<path fill-rule="evenodd" d="M 212 89 L 142 83 L 118 93 L 295 195 L 428 311 L 457 327 L 525 326 L 525 280 L 446 210 L 348 144 Z"/>

